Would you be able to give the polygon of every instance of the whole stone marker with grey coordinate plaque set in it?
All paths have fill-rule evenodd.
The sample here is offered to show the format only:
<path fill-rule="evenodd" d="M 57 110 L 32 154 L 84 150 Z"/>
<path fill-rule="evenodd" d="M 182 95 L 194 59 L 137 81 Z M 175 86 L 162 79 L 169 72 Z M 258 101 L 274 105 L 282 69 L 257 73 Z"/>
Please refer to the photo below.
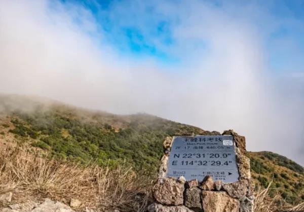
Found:
<path fill-rule="evenodd" d="M 149 212 L 252 212 L 254 185 L 245 137 L 222 134 L 167 137 L 155 202 Z"/>

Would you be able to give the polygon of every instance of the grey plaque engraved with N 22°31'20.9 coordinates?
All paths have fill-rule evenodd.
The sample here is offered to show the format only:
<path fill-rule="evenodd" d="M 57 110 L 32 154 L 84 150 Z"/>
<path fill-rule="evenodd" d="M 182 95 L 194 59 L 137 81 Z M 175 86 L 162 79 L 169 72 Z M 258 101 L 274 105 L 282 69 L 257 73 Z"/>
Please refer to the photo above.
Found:
<path fill-rule="evenodd" d="M 206 175 L 214 181 L 239 180 L 235 144 L 231 135 L 178 136 L 173 138 L 167 176 L 184 176 L 187 181 L 202 181 Z"/>

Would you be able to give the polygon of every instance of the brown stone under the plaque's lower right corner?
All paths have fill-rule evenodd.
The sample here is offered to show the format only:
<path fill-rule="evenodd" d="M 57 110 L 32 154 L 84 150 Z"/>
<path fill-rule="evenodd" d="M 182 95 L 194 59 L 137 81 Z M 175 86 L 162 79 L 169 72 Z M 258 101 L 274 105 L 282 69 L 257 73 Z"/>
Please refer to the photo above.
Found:
<path fill-rule="evenodd" d="M 245 196 L 248 191 L 248 181 L 240 180 L 235 183 L 223 184 L 222 189 L 226 191 L 231 197 L 241 198 Z"/>

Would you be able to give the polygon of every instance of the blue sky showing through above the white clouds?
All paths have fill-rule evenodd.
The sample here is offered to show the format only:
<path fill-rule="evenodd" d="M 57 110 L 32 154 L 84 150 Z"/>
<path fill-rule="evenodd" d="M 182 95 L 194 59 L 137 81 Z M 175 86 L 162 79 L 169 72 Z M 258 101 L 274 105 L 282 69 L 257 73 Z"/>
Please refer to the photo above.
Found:
<path fill-rule="evenodd" d="M 112 46 L 123 56 L 135 60 L 151 58 L 174 66 L 185 62 L 184 55 L 180 54 L 185 51 L 184 46 L 208 51 L 208 39 L 188 39 L 186 44 L 181 46 L 178 38 L 173 35 L 184 15 L 177 9 L 187 10 L 185 1 L 166 1 L 164 5 L 172 7 L 168 13 L 164 12 L 162 1 L 62 2 L 66 8 L 79 5 L 90 11 L 97 23 L 98 33 L 92 33 L 92 36 L 96 37 L 96 42 Z M 304 70 L 303 1 L 193 3 L 204 4 L 216 12 L 242 20 L 244 24 L 254 28 L 262 37 L 262 48 L 271 69 L 277 72 L 288 72 L 290 69 L 296 72 Z M 198 11 L 190 9 L 188 12 Z M 80 20 L 76 18 L 75 21 Z"/>

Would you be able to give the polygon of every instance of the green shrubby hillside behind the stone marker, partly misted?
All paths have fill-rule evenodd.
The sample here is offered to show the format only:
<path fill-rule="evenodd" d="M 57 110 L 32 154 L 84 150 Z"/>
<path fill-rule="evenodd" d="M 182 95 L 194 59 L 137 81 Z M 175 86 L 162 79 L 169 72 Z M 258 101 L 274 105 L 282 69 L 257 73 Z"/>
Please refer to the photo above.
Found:
<path fill-rule="evenodd" d="M 0 145 L 23 145 L 62 160 L 127 163 L 155 175 L 166 136 L 206 131 L 147 114 L 113 115 L 41 99 L 0 96 Z M 304 200 L 303 167 L 270 152 L 248 152 L 257 184 L 290 203 Z"/>

